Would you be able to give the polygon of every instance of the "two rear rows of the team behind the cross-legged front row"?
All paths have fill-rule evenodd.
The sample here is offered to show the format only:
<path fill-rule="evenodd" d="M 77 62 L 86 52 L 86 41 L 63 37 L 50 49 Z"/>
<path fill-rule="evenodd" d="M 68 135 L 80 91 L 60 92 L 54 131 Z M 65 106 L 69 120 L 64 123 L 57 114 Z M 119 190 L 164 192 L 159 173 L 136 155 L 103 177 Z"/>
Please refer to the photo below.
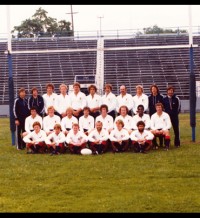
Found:
<path fill-rule="evenodd" d="M 67 93 L 65 84 L 61 84 L 59 88 L 60 94 L 56 94 L 54 85 L 47 84 L 47 92 L 40 96 L 34 87 L 29 98 L 26 97 L 24 88 L 19 90 L 19 97 L 15 100 L 13 108 L 18 149 L 25 147 L 22 138 L 33 131 L 35 121 L 40 123 L 40 128 L 47 136 L 55 131 L 55 124 L 60 124 L 61 131 L 67 136 L 74 123 L 77 123 L 79 130 L 88 136 L 96 127 L 97 121 L 100 121 L 102 128 L 110 134 L 117 128 L 116 121 L 120 120 L 123 129 L 126 129 L 129 135 L 138 129 L 138 121 L 143 121 L 145 129 L 151 130 L 155 136 L 161 134 L 170 138 L 169 130 L 172 124 L 175 134 L 174 145 L 180 146 L 178 114 L 181 105 L 173 87 L 167 88 L 166 96 L 159 93 L 157 85 L 150 87 L 149 96 L 143 93 L 141 85 L 136 86 L 134 96 L 127 93 L 124 85 L 120 87 L 118 96 L 112 93 L 111 84 L 105 85 L 103 96 L 97 94 L 95 85 L 88 87 L 87 96 L 81 92 L 79 83 L 74 83 L 73 92 L 70 94 Z M 157 103 L 161 103 L 161 112 L 156 110 Z M 153 145 L 158 146 L 156 137 L 153 139 Z"/>

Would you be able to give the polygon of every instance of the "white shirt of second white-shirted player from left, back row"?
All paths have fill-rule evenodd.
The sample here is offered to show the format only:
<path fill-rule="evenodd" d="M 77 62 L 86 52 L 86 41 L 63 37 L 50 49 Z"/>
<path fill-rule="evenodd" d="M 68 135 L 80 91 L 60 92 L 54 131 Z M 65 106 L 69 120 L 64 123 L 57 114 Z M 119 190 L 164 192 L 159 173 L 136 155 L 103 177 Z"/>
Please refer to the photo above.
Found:
<path fill-rule="evenodd" d="M 55 109 L 59 114 L 65 113 L 66 109 L 71 107 L 71 98 L 69 95 L 59 94 L 55 101 Z"/>

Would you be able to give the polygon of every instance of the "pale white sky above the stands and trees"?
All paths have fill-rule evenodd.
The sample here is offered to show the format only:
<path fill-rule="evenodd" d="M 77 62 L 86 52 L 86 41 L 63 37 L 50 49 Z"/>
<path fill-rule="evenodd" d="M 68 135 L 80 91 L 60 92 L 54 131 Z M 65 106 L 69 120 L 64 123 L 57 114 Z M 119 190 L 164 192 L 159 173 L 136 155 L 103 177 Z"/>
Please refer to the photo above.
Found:
<path fill-rule="evenodd" d="M 10 5 L 10 27 L 21 25 L 41 7 L 48 16 L 71 22 L 71 5 Z M 72 5 L 74 31 L 102 32 L 153 27 L 189 26 L 188 5 Z M 191 6 L 192 26 L 200 26 L 200 5 Z M 0 34 L 7 33 L 7 6 L 0 5 Z M 194 28 L 193 27 L 193 31 Z"/>

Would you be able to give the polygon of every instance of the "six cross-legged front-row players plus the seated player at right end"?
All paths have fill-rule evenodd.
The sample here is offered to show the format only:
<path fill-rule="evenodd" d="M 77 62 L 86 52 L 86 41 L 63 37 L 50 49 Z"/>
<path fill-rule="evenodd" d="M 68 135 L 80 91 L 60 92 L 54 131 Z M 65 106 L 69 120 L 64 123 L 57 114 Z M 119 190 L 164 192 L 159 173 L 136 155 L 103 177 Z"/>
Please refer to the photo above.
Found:
<path fill-rule="evenodd" d="M 23 141 L 28 153 L 49 152 L 53 155 L 65 153 L 67 148 L 72 154 L 80 154 L 83 148 L 90 148 L 93 154 L 102 154 L 109 149 L 113 153 L 131 149 L 147 153 L 158 137 L 164 141 L 165 150 L 168 150 L 170 118 L 162 111 L 162 104 L 158 103 L 156 108 L 157 112 L 151 117 L 151 129 L 146 129 L 145 121 L 141 119 L 137 122 L 137 129 L 129 132 L 122 117 L 115 120 L 115 128 L 110 130 L 105 129 L 103 122 L 96 119 L 95 128 L 90 131 L 81 129 L 80 124 L 74 122 L 67 132 L 62 130 L 59 123 L 48 132 L 42 129 L 41 122 L 35 121 L 32 125 L 33 130 L 24 134 Z"/>

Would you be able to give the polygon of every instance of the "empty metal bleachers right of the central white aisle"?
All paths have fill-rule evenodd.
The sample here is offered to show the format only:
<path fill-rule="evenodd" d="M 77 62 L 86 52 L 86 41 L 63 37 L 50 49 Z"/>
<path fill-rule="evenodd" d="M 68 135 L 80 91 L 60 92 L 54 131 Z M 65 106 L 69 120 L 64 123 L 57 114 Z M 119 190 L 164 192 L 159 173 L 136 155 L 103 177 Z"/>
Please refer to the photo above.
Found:
<path fill-rule="evenodd" d="M 142 36 L 132 39 L 105 40 L 105 47 L 128 46 L 163 46 L 188 45 L 188 36 Z M 199 36 L 194 37 L 194 44 L 200 45 Z M 194 48 L 194 73 L 199 80 L 199 47 Z M 152 84 L 157 84 L 160 91 L 166 94 L 166 88 L 173 85 L 181 100 L 189 99 L 189 49 L 162 48 L 143 50 L 106 51 L 104 53 L 104 78 L 106 83 L 113 84 L 119 94 L 119 84 L 126 84 L 128 92 L 135 94 L 135 86 L 143 85 L 144 92 L 149 94 Z"/>

